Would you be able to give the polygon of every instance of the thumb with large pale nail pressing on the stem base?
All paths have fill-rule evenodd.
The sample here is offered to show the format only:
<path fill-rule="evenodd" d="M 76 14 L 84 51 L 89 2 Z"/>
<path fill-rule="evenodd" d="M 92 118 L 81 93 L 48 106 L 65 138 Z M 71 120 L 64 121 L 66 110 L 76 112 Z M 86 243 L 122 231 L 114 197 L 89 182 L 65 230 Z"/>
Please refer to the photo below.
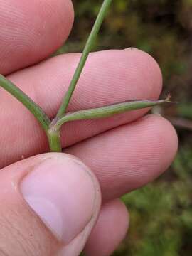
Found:
<path fill-rule="evenodd" d="M 100 210 L 94 174 L 68 154 L 0 171 L 0 255 L 79 255 Z"/>

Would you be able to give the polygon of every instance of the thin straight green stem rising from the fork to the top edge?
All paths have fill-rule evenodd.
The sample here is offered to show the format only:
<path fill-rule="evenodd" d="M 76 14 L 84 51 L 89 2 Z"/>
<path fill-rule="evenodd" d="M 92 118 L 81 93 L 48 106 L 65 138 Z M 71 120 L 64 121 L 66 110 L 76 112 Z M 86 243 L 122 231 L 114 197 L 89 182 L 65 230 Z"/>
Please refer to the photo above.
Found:
<path fill-rule="evenodd" d="M 87 57 L 92 50 L 92 46 L 95 43 L 95 38 L 97 36 L 97 33 L 100 30 L 100 26 L 102 25 L 102 21 L 105 18 L 105 14 L 107 12 L 107 9 L 110 7 L 112 0 L 105 0 L 103 1 L 102 7 L 100 9 L 100 12 L 97 16 L 97 19 L 95 21 L 95 24 L 92 28 L 92 31 L 90 33 L 90 36 L 87 40 L 87 43 L 85 45 L 85 48 L 82 52 L 82 56 L 80 58 L 80 62 L 78 63 L 78 67 L 75 70 L 75 74 L 73 75 L 73 79 L 70 82 L 70 86 L 68 88 L 68 91 L 65 94 L 65 97 L 63 98 L 63 103 L 60 105 L 60 109 L 58 110 L 57 118 L 62 117 L 63 114 L 65 114 L 68 104 L 70 102 L 70 98 L 73 95 L 73 91 L 75 90 L 75 86 L 77 85 L 77 82 L 80 78 L 80 74 L 82 73 L 82 69 L 85 66 L 85 62 L 87 60 Z"/>

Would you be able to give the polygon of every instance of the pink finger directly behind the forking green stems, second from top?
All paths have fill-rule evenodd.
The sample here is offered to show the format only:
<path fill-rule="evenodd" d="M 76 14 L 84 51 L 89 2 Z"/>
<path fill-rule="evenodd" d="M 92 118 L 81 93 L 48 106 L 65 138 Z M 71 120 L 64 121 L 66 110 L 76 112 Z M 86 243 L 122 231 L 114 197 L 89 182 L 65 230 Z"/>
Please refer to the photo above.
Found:
<path fill-rule="evenodd" d="M 9 78 L 41 105 L 50 118 L 56 114 L 80 55 L 62 55 Z M 68 111 L 101 107 L 133 99 L 156 99 L 161 92 L 161 72 L 153 58 L 141 50 L 107 50 L 92 53 Z M 112 118 L 70 122 L 63 126 L 63 147 L 78 143 L 121 124 L 132 122 L 147 110 Z M 48 151 L 41 127 L 28 110 L 1 90 L 1 166 Z"/>

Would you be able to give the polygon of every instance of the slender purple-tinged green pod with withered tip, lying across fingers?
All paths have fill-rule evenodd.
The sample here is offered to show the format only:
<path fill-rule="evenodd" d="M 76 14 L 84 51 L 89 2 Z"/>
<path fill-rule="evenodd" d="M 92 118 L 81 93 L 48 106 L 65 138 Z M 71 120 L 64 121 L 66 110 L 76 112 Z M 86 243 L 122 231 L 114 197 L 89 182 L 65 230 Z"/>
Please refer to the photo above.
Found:
<path fill-rule="evenodd" d="M 169 100 L 170 95 L 166 98 L 166 100 L 132 100 L 127 102 L 120 102 L 106 107 L 93 108 L 90 110 L 80 110 L 77 112 L 65 114 L 58 120 L 54 119 L 50 124 L 50 127 L 54 127 L 53 129 L 59 131 L 65 122 L 112 117 L 114 114 L 120 114 L 131 110 L 139 110 L 147 107 L 161 105 L 166 102 L 170 102 Z"/>

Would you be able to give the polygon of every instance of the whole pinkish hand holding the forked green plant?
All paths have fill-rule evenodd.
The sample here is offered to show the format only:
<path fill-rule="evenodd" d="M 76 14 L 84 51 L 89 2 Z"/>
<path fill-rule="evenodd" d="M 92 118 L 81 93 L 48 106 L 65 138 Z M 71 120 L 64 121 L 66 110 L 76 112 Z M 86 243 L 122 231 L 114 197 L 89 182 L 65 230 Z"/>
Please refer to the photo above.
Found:
<path fill-rule="evenodd" d="M 68 38 L 70 0 L 2 0 L 0 16 L 0 73 L 52 117 L 80 54 L 40 61 Z M 140 50 L 92 53 L 69 110 L 157 99 L 161 86 L 159 66 Z M 146 110 L 72 122 L 62 134 L 68 154 L 50 154 L 36 119 L 2 89 L 0 107 L 0 255 L 75 256 L 85 244 L 87 255 L 110 255 L 129 223 L 117 198 L 168 168 L 174 128 Z"/>

